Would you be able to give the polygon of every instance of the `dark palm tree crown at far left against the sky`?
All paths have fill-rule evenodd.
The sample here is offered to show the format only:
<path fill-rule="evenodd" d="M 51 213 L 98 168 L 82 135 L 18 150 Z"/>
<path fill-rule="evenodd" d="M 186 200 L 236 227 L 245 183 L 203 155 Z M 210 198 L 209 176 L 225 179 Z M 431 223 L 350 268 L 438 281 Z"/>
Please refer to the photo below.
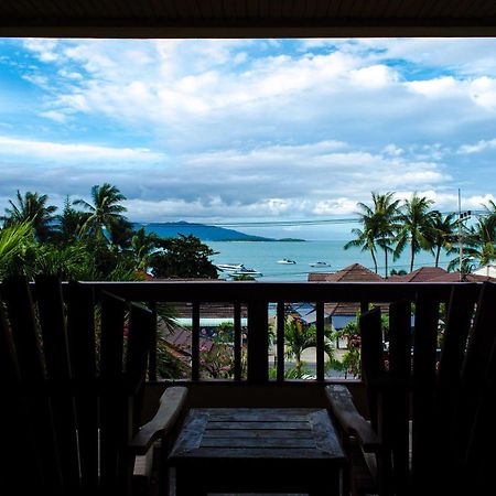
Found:
<path fill-rule="evenodd" d="M 47 195 L 31 193 L 28 191 L 24 196 L 18 190 L 17 202 L 9 200 L 11 208 L 6 208 L 6 226 L 12 226 L 31 222 L 34 236 L 40 241 L 46 241 L 52 234 L 53 215 L 57 209 L 54 205 L 46 205 Z"/>

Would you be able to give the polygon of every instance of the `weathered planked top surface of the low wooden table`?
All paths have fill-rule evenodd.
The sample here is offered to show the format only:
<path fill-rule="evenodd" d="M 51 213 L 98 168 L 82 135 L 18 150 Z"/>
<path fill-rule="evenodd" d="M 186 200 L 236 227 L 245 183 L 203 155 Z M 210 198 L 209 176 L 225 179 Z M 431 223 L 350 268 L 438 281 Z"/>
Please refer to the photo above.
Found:
<path fill-rule="evenodd" d="M 345 456 L 325 409 L 191 409 L 170 462 L 184 459 L 333 460 Z"/>

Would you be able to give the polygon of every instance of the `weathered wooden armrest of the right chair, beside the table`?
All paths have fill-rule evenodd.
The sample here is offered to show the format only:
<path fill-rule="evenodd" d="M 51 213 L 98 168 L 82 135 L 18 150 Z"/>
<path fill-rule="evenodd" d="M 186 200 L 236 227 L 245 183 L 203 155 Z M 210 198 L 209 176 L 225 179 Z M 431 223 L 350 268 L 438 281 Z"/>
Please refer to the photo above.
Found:
<path fill-rule="evenodd" d="M 325 396 L 331 411 L 346 434 L 356 436 L 365 452 L 377 452 L 381 445 L 380 439 L 356 409 L 348 388 L 330 385 L 325 387 Z"/>

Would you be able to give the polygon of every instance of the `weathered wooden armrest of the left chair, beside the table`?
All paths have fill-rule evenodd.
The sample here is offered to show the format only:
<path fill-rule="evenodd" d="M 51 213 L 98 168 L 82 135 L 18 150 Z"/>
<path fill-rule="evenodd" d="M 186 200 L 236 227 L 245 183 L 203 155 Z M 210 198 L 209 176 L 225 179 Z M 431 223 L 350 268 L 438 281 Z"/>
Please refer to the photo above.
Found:
<path fill-rule="evenodd" d="M 187 388 L 174 386 L 165 389 L 160 398 L 159 410 L 153 419 L 140 428 L 132 438 L 129 449 L 136 455 L 143 455 L 151 445 L 169 432 L 181 416 L 186 403 Z"/>

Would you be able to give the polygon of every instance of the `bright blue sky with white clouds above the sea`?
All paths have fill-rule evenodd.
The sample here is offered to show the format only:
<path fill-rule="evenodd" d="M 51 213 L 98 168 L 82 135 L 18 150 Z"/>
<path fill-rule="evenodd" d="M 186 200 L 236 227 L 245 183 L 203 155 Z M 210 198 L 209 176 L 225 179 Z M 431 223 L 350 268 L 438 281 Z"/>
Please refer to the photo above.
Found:
<path fill-rule="evenodd" d="M 494 39 L 0 39 L 0 213 L 109 182 L 133 222 L 346 239 L 371 192 L 481 209 L 495 159 Z"/>

